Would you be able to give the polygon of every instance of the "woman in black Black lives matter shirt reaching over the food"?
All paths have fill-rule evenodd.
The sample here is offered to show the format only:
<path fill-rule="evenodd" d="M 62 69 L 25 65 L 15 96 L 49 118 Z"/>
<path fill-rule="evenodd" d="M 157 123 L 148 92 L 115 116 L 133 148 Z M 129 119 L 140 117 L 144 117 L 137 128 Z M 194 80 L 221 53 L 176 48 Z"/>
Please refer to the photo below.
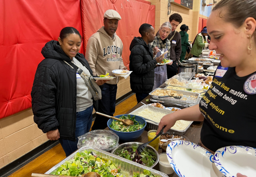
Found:
<path fill-rule="evenodd" d="M 177 120 L 203 121 L 200 146 L 213 154 L 226 146 L 256 148 L 255 9 L 255 0 L 221 0 L 212 9 L 207 21 L 209 49 L 221 54 L 212 85 L 198 105 L 165 115 L 156 134 Z"/>

